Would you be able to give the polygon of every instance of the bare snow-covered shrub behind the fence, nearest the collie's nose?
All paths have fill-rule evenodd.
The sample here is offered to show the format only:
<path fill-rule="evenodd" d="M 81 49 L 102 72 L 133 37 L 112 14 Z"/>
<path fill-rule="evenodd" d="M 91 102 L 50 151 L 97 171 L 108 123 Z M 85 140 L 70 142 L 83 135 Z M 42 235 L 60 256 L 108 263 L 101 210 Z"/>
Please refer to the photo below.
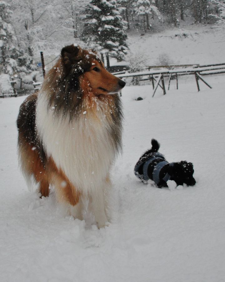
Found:
<path fill-rule="evenodd" d="M 125 56 L 125 61 L 129 63 L 129 72 L 137 73 L 146 69 L 146 61 L 148 57 L 146 54 L 140 52 L 129 52 Z M 139 85 L 141 76 L 133 77 L 131 83 L 133 85 Z"/>

